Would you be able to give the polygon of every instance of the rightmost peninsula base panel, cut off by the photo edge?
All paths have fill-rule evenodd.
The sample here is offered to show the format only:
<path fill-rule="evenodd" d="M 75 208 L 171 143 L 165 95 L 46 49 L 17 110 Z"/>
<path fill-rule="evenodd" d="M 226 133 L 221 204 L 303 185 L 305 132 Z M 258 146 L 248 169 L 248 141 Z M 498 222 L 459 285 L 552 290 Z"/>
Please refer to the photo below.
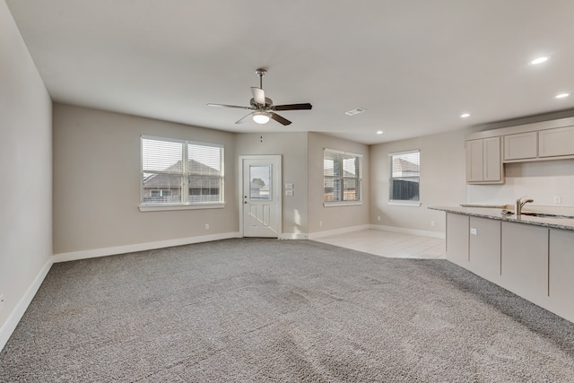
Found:
<path fill-rule="evenodd" d="M 551 229 L 548 296 L 552 311 L 574 322 L 574 231 Z"/>

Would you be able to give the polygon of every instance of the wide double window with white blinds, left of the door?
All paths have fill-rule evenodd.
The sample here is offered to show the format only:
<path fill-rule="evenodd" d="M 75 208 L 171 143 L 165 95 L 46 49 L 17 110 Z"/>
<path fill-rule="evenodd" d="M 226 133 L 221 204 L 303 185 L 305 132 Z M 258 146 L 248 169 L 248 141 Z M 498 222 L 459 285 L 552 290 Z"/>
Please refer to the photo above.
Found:
<path fill-rule="evenodd" d="M 222 145 L 142 137 L 142 205 L 222 203 Z"/>

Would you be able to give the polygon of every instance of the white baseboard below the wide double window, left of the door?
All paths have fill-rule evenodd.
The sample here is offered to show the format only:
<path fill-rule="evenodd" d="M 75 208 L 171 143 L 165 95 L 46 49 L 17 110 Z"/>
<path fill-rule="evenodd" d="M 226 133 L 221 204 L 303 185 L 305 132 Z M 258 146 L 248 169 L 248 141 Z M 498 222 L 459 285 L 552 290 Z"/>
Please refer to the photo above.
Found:
<path fill-rule="evenodd" d="M 199 237 L 189 237 L 180 239 L 160 240 L 157 242 L 136 243 L 134 245 L 117 246 L 113 248 L 96 248 L 93 250 L 72 251 L 54 255 L 54 263 L 75 261 L 95 257 L 108 257 L 117 254 L 133 253 L 135 251 L 152 250 L 155 248 L 171 248 L 173 246 L 190 245 L 192 243 L 209 242 L 219 239 L 240 238 L 239 232 L 225 232 L 221 234 L 203 235 Z"/>

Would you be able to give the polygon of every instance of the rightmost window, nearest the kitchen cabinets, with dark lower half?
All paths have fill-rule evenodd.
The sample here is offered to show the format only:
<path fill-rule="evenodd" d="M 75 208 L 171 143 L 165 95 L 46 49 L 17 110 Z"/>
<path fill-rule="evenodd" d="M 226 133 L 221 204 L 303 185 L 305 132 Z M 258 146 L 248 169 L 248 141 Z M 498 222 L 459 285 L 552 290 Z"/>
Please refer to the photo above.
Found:
<path fill-rule="evenodd" d="M 391 153 L 388 157 L 391 166 L 390 203 L 421 205 L 419 203 L 420 152 Z"/>

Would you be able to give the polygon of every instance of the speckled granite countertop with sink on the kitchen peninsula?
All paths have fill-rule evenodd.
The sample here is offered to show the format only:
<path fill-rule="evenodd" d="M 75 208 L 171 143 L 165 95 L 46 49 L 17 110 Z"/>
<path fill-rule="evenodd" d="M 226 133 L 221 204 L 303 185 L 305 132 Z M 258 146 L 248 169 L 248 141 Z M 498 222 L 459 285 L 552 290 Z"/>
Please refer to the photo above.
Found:
<path fill-rule="evenodd" d="M 501 206 L 500 206 L 501 207 Z M 490 218 L 492 220 L 500 220 L 507 222 L 525 223 L 528 225 L 544 226 L 551 229 L 561 229 L 574 231 L 574 219 L 572 218 L 545 218 L 535 217 L 531 215 L 504 215 L 500 207 L 470 207 L 465 206 L 431 206 L 429 209 L 440 210 L 447 213 L 465 214 L 473 217 Z M 523 213 L 528 213 L 528 210 L 523 210 Z"/>

